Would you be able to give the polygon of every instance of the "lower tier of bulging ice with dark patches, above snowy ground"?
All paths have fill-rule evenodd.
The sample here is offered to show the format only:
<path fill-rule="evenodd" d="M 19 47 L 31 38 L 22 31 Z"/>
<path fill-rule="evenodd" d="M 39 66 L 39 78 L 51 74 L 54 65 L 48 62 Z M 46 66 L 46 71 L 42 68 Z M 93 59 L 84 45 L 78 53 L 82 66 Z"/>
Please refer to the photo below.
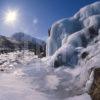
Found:
<path fill-rule="evenodd" d="M 74 67 L 79 59 L 80 50 L 78 48 L 86 47 L 98 35 L 92 35 L 92 32 L 89 31 L 90 29 L 98 33 L 98 28 L 95 30 L 94 27 L 90 27 L 69 35 L 67 42 L 55 51 L 51 57 L 50 65 L 55 66 L 57 63 L 57 66 L 67 65 Z"/>

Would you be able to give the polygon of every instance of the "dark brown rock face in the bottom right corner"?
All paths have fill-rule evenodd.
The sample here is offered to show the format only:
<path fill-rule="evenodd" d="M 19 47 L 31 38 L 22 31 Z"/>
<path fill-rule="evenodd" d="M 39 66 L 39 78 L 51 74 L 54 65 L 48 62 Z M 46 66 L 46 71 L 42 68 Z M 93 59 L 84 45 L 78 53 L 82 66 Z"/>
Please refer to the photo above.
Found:
<path fill-rule="evenodd" d="M 100 68 L 94 70 L 94 82 L 89 92 L 92 100 L 100 100 Z"/>

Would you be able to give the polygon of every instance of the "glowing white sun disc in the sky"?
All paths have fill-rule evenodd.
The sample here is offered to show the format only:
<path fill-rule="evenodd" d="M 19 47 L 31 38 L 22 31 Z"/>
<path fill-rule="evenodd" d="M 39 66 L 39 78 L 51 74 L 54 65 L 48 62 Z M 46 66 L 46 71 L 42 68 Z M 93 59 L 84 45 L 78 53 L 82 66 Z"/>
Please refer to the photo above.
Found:
<path fill-rule="evenodd" d="M 17 17 L 18 17 L 17 10 L 8 10 L 5 13 L 4 21 L 6 24 L 14 24 L 15 21 L 17 20 Z"/>

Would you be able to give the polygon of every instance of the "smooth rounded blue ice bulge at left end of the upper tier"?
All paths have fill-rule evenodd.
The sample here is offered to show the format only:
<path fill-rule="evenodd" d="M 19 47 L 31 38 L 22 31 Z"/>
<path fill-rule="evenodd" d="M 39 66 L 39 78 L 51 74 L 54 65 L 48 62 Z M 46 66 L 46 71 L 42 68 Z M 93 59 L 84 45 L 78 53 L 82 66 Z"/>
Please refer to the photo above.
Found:
<path fill-rule="evenodd" d="M 81 29 L 80 23 L 76 19 L 63 19 L 54 23 L 51 27 L 50 37 L 47 41 L 48 56 L 51 56 L 62 45 L 65 34 L 69 35 Z"/>

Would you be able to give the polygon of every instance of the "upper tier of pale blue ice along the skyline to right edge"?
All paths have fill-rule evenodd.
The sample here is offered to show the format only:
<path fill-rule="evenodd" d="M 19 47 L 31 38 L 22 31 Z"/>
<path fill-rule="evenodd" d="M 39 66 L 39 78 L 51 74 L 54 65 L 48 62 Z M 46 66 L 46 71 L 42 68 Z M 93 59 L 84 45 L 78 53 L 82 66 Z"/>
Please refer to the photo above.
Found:
<path fill-rule="evenodd" d="M 73 17 L 55 22 L 51 26 L 50 36 L 47 40 L 47 56 L 53 55 L 56 50 L 63 46 L 70 34 L 91 26 L 99 27 L 99 20 L 100 2 L 96 2 L 83 7 Z"/>

